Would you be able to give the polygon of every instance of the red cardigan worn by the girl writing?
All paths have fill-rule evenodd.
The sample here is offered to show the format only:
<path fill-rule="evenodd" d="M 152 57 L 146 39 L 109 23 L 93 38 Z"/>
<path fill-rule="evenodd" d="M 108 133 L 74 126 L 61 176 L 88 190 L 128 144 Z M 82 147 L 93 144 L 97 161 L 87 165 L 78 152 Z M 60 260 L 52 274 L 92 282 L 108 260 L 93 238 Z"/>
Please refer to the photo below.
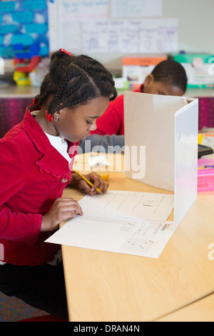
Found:
<path fill-rule="evenodd" d="M 76 154 L 75 145 L 68 143 L 68 153 L 73 152 L 70 157 Z M 0 139 L 0 243 L 4 262 L 34 266 L 54 259 L 60 246 L 44 242 L 53 232 L 40 232 L 42 215 L 70 181 L 68 161 L 26 112 L 24 120 Z"/>

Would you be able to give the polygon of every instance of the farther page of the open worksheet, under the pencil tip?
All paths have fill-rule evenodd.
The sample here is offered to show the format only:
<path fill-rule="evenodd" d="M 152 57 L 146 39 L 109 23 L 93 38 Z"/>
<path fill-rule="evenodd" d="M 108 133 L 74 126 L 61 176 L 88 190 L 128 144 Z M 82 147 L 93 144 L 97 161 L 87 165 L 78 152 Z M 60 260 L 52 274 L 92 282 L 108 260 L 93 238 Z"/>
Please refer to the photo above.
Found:
<path fill-rule="evenodd" d="M 83 214 L 165 221 L 173 210 L 174 196 L 108 190 L 103 195 L 86 195 L 78 204 Z"/>

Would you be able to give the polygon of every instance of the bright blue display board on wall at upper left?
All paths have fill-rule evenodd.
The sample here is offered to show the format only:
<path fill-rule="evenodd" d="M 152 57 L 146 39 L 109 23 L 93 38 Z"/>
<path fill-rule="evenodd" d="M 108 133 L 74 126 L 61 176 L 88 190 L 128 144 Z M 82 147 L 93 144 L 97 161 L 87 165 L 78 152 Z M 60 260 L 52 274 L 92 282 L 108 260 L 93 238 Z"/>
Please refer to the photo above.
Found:
<path fill-rule="evenodd" d="M 46 0 L 0 0 L 0 56 L 49 54 Z"/>

